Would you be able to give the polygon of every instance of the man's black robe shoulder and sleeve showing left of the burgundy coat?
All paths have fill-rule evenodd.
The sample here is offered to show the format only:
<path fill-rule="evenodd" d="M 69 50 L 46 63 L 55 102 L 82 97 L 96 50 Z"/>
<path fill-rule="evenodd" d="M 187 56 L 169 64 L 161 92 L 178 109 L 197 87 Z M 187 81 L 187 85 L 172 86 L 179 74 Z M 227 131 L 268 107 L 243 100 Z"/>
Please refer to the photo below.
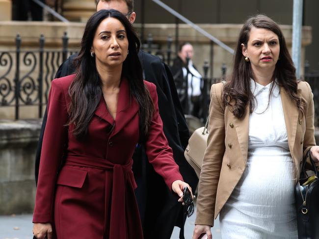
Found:
<path fill-rule="evenodd" d="M 61 78 L 63 76 L 67 76 L 67 75 L 73 74 L 75 72 L 74 58 L 76 56 L 77 55 L 71 55 L 65 62 L 63 62 L 59 66 L 59 68 L 55 74 L 54 79 Z M 36 184 L 38 184 L 41 148 L 42 148 L 43 134 L 44 134 L 44 130 L 45 130 L 46 124 L 47 124 L 47 118 L 48 118 L 48 114 L 47 114 L 47 108 L 46 108 L 44 115 L 43 115 L 39 141 L 38 141 L 36 154 L 35 154 L 34 176 L 35 176 L 35 183 Z"/>

